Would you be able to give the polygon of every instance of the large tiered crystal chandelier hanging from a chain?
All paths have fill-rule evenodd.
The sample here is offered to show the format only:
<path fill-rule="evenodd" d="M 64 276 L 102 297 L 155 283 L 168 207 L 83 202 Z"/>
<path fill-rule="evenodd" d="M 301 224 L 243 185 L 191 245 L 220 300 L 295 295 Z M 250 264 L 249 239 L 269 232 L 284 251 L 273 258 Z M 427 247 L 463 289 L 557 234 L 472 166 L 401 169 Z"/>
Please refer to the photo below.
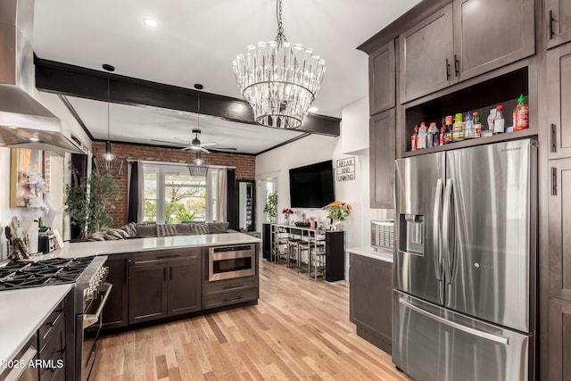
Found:
<path fill-rule="evenodd" d="M 277 0 L 275 41 L 250 45 L 238 54 L 234 74 L 255 120 L 272 128 L 298 128 L 318 94 L 325 60 L 313 49 L 291 45 L 282 27 L 282 0 Z"/>

